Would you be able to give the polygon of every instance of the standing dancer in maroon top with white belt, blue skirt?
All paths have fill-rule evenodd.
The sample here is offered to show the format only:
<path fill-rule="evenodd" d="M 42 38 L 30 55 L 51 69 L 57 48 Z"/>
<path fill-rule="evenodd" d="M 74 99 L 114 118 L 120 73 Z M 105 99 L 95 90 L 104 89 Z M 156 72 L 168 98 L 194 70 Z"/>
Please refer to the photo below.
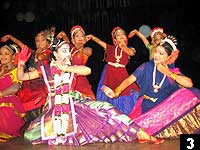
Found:
<path fill-rule="evenodd" d="M 112 100 L 108 96 L 106 96 L 103 91 L 105 91 L 107 87 L 114 90 L 119 83 L 121 83 L 126 77 L 129 76 L 126 70 L 126 65 L 129 61 L 129 57 L 135 55 L 136 52 L 134 48 L 129 48 L 127 46 L 128 45 L 127 36 L 125 34 L 125 31 L 121 27 L 115 27 L 112 30 L 111 35 L 114 45 L 107 44 L 92 34 L 87 35 L 88 39 L 91 39 L 94 42 L 98 43 L 100 46 L 102 46 L 106 53 L 107 64 L 104 67 L 101 79 L 98 84 L 96 99 L 106 100 L 109 102 L 112 102 Z M 131 90 L 138 91 L 139 87 L 137 86 L 137 84 L 134 83 L 130 85 L 126 90 L 124 90 L 122 92 L 122 95 L 129 96 L 131 94 Z M 118 102 L 120 102 L 120 100 Z M 131 108 L 134 105 L 134 103 L 122 104 L 122 105 L 121 105 L 122 107 L 130 106 Z"/>

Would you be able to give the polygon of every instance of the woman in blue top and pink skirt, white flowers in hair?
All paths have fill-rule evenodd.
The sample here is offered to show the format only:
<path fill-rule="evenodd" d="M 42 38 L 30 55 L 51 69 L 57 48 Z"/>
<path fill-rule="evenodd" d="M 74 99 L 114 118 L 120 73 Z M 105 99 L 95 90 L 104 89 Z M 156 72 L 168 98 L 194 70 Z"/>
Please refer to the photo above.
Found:
<path fill-rule="evenodd" d="M 143 63 L 126 78 L 110 97 L 118 97 L 133 82 L 141 91 L 129 117 L 149 134 L 176 138 L 200 128 L 200 91 L 178 68 L 168 62 L 177 58 L 176 39 L 168 36 L 156 47 L 154 59 Z"/>

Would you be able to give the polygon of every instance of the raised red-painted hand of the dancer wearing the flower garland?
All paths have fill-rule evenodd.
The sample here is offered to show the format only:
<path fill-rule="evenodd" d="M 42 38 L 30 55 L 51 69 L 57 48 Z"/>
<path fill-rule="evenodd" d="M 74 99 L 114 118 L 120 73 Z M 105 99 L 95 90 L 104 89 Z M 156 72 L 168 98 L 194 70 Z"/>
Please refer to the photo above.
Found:
<path fill-rule="evenodd" d="M 31 49 L 28 46 L 24 45 L 22 47 L 21 52 L 18 55 L 18 59 L 19 59 L 18 63 L 24 65 L 30 56 L 31 56 Z"/>

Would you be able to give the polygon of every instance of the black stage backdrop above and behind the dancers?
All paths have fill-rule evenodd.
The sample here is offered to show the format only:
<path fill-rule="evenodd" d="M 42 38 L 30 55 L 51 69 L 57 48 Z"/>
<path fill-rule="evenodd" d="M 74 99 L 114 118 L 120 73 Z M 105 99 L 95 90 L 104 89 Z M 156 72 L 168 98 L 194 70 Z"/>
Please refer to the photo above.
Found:
<path fill-rule="evenodd" d="M 56 32 L 64 30 L 68 36 L 72 26 L 81 25 L 87 34 L 92 33 L 107 43 L 112 43 L 110 33 L 115 26 L 121 26 L 127 33 L 143 24 L 163 27 L 167 34 L 178 39 L 181 52 L 176 66 L 200 88 L 198 11 L 198 5 L 188 0 L 3 0 L 0 36 L 12 34 L 35 49 L 36 33 L 52 25 Z M 87 65 L 92 69 L 88 79 L 96 92 L 105 65 L 104 51 L 92 41 L 86 45 L 93 48 Z M 130 39 L 129 45 L 137 51 L 127 65 L 131 73 L 148 60 L 148 51 L 137 37 Z"/>

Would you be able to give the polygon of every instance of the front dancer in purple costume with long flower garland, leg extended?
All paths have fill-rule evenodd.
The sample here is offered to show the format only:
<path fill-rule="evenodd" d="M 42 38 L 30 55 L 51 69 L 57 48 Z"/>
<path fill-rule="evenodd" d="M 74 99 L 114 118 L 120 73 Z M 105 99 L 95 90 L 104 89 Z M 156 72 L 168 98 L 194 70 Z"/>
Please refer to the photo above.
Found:
<path fill-rule="evenodd" d="M 18 78 L 30 80 L 39 77 L 40 71 L 49 95 L 43 113 L 31 122 L 24 138 L 32 144 L 80 146 L 94 142 L 150 142 L 160 144 L 163 139 L 150 136 L 107 102 L 85 99 L 74 91 L 74 74 L 88 75 L 90 68 L 72 66 L 69 45 L 65 41 L 54 43 L 50 65 L 24 73 L 23 66 L 29 57 L 24 47 L 19 55 Z"/>

